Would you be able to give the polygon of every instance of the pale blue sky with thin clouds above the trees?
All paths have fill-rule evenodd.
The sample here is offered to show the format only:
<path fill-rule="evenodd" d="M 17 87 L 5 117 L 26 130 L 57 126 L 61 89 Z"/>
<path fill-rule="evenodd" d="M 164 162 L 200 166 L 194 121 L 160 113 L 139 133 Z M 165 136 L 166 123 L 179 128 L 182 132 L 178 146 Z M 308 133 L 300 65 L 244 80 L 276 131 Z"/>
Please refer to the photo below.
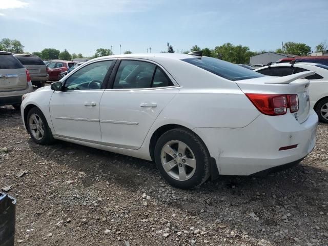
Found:
<path fill-rule="evenodd" d="M 25 51 L 67 49 L 90 55 L 176 51 L 230 42 L 275 50 L 281 42 L 315 49 L 328 39 L 328 0 L 0 0 L 0 39 Z M 328 42 L 328 40 L 327 40 Z"/>

